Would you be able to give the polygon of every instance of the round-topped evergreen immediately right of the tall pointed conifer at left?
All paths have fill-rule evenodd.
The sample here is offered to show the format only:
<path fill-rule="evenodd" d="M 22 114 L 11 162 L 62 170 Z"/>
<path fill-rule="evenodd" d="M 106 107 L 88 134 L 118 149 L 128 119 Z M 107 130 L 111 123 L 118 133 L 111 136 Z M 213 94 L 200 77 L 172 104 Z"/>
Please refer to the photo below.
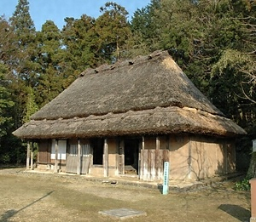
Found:
<path fill-rule="evenodd" d="M 37 33 L 38 84 L 34 94 L 39 106 L 43 106 L 61 93 L 65 85 L 65 51 L 62 48 L 61 31 L 53 21 L 46 21 Z"/>

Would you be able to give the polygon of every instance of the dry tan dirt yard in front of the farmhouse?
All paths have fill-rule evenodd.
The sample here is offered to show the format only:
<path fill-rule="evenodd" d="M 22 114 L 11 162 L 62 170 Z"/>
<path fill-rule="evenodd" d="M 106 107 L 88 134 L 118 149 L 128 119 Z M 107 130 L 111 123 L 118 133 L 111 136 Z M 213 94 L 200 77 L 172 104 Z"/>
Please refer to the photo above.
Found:
<path fill-rule="evenodd" d="M 118 221 L 99 211 L 144 211 L 125 221 L 218 222 L 250 220 L 250 192 L 225 181 L 197 191 L 172 192 L 90 182 L 79 176 L 0 169 L 0 221 Z"/>

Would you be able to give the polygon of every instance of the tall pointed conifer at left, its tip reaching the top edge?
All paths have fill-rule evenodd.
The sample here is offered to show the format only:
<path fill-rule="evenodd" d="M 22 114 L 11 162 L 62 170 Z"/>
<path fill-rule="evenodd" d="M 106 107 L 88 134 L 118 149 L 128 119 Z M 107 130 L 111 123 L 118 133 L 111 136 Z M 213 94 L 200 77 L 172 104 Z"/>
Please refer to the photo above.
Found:
<path fill-rule="evenodd" d="M 19 0 L 10 25 L 15 35 L 12 39 L 15 54 L 12 55 L 10 67 L 12 94 L 15 95 L 15 127 L 18 128 L 22 124 L 26 105 L 26 87 L 38 84 L 36 31 L 27 0 Z"/>

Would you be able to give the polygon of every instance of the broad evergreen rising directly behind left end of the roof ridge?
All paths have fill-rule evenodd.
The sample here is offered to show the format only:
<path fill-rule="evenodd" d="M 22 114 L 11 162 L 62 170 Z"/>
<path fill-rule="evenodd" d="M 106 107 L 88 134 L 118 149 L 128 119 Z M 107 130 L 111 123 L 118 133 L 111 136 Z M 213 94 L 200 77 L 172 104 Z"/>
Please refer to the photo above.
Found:
<path fill-rule="evenodd" d="M 96 55 L 98 51 L 95 20 L 83 14 L 80 19 L 66 18 L 62 35 L 65 51 L 64 72 L 67 80 L 75 77 L 88 67 L 100 64 Z"/>

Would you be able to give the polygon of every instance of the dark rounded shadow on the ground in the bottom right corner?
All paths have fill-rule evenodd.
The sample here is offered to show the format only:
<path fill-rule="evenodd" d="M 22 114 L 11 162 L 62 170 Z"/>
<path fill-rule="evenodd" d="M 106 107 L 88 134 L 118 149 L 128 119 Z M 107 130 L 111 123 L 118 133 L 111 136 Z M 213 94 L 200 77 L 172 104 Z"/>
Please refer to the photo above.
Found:
<path fill-rule="evenodd" d="M 249 221 L 251 212 L 245 208 L 241 208 L 234 204 L 221 204 L 218 209 L 223 210 L 225 213 L 229 213 L 232 217 L 239 219 L 240 221 Z"/>

